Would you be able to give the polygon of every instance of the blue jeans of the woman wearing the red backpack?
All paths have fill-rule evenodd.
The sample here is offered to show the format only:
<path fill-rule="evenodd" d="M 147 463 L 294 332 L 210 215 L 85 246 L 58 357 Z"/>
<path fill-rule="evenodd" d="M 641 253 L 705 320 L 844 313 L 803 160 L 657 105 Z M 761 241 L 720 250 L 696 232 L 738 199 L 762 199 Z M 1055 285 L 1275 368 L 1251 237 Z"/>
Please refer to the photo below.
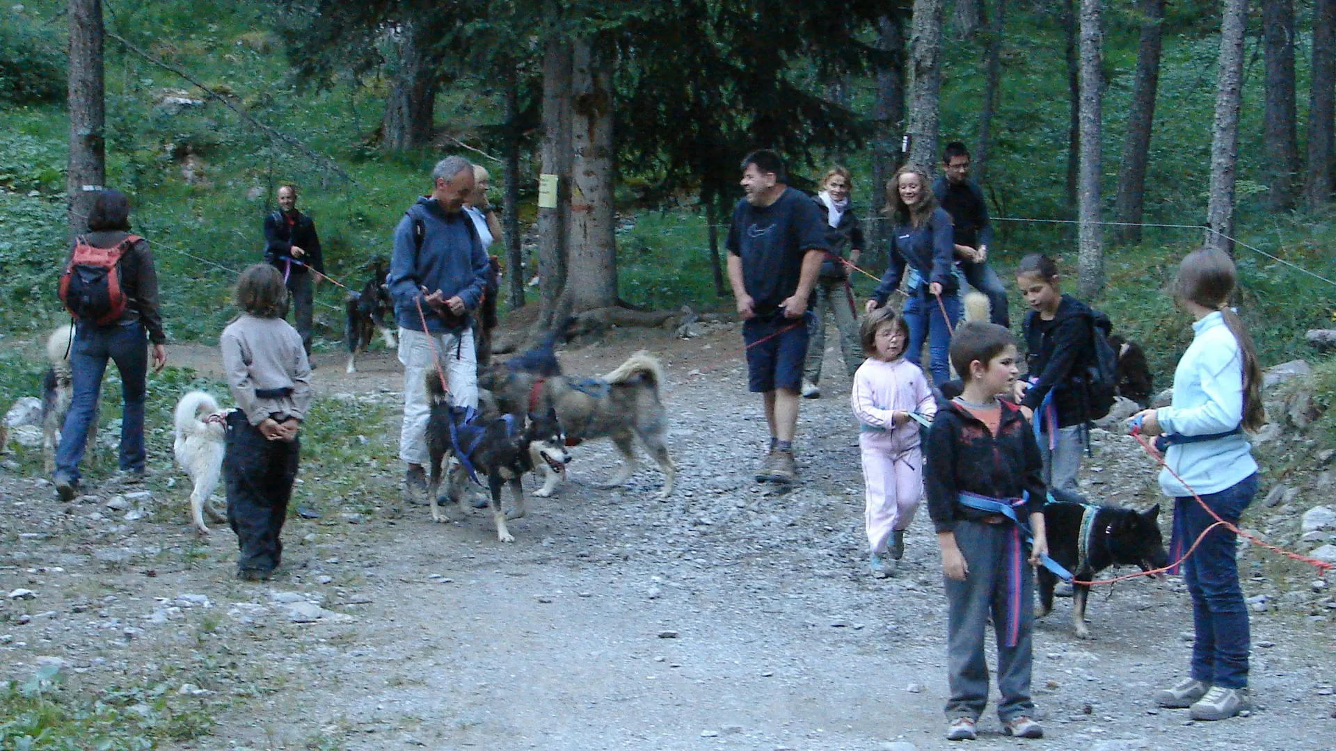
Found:
<path fill-rule="evenodd" d="M 144 378 L 148 374 L 148 337 L 143 323 L 134 321 L 119 326 L 86 326 L 75 329 L 69 346 L 69 373 L 73 394 L 69 413 L 60 429 L 56 449 L 56 474 L 79 480 L 88 428 L 96 418 L 98 394 L 107 361 L 120 371 L 124 410 L 120 418 L 120 469 L 144 470 Z"/>

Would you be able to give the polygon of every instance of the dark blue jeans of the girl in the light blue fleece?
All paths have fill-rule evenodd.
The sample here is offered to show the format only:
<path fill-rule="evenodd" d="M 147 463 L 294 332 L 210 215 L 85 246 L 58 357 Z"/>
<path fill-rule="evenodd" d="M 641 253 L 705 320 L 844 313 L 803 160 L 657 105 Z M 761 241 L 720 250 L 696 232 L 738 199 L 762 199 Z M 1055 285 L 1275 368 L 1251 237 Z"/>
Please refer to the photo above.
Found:
<path fill-rule="evenodd" d="M 1232 488 L 1202 496 L 1220 518 L 1238 524 L 1238 517 L 1257 493 L 1252 474 Z M 1216 522 L 1196 498 L 1174 498 L 1184 514 L 1184 541 L 1190 547 L 1201 532 Z M 1197 633 L 1192 645 L 1192 678 L 1206 686 L 1244 688 L 1248 686 L 1248 607 L 1238 587 L 1238 564 L 1233 532 L 1217 527 L 1182 564 L 1182 580 L 1192 596 L 1192 620 Z"/>

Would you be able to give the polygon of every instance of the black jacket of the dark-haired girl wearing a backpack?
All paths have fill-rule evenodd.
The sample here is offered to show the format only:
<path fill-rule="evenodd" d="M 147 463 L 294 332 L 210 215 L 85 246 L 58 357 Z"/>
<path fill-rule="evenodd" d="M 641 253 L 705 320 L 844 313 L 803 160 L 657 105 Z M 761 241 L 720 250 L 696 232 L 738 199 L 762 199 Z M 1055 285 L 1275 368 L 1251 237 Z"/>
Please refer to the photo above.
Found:
<path fill-rule="evenodd" d="M 1090 306 L 1071 295 L 1062 295 L 1053 321 L 1039 318 L 1034 310 L 1021 323 L 1025 333 L 1026 362 L 1030 377 L 1038 378 L 1021 404 L 1038 410 L 1043 397 L 1053 392 L 1058 408 L 1058 428 L 1086 421 L 1086 397 L 1082 367 L 1094 351 L 1094 327 Z M 1038 416 L 1035 416 L 1038 420 Z"/>

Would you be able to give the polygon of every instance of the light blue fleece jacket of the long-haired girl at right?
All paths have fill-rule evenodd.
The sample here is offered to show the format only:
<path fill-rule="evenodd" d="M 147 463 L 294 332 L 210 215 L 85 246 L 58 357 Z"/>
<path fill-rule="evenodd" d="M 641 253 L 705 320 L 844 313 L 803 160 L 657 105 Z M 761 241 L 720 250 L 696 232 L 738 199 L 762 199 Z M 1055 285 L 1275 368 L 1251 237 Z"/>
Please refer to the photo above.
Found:
<path fill-rule="evenodd" d="M 1210 313 L 1192 325 L 1193 338 L 1173 373 L 1173 404 L 1156 410 L 1164 433 L 1209 436 L 1238 428 L 1244 418 L 1242 353 L 1225 317 Z M 1218 493 L 1257 472 L 1252 446 L 1236 433 L 1214 441 L 1174 444 L 1165 453 L 1172 466 L 1198 494 Z M 1189 496 L 1168 469 L 1160 470 L 1166 496 Z"/>

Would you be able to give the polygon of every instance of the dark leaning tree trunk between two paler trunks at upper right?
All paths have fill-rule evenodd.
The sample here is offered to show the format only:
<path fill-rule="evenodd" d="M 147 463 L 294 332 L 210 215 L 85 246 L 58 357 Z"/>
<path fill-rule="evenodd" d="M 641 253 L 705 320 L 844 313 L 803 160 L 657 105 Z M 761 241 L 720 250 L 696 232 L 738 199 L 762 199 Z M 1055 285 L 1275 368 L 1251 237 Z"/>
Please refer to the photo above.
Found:
<path fill-rule="evenodd" d="M 1160 43 L 1165 17 L 1165 0 L 1141 0 L 1141 44 L 1137 48 L 1137 78 L 1132 84 L 1128 132 L 1122 139 L 1122 162 L 1118 166 L 1117 215 L 1124 242 L 1141 242 L 1145 216 L 1146 163 L 1150 134 L 1156 122 L 1156 92 L 1160 87 Z"/>

